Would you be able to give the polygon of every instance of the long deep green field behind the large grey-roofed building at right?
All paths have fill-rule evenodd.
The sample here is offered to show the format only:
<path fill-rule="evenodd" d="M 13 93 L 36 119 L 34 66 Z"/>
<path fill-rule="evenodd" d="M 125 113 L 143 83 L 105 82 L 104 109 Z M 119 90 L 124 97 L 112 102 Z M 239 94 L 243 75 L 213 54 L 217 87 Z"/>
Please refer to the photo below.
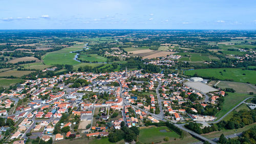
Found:
<path fill-rule="evenodd" d="M 226 72 L 224 72 L 223 70 L 226 70 Z M 234 68 L 218 68 L 218 69 L 198 69 L 198 70 L 185 71 L 185 75 L 187 76 L 194 76 L 194 74 L 197 74 L 198 76 L 201 76 L 201 77 L 215 77 L 220 80 L 233 79 L 233 81 L 237 81 L 241 83 L 249 82 L 252 84 L 256 84 L 256 71 L 252 71 L 252 70 L 242 70 L 242 69 L 234 69 Z"/>

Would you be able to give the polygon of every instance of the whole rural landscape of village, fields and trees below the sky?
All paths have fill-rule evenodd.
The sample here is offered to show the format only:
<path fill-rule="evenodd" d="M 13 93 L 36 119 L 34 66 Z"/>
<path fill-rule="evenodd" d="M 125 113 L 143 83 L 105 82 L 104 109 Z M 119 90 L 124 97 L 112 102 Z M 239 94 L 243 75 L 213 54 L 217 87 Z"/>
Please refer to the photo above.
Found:
<path fill-rule="evenodd" d="M 246 32 L 1 30 L 1 142 L 245 142 L 256 126 Z"/>

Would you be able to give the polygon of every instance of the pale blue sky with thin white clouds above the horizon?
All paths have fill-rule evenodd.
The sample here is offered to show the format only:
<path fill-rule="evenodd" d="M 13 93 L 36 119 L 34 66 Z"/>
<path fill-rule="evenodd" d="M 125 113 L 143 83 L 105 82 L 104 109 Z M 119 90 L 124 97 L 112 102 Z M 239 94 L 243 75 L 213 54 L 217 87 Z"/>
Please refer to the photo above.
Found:
<path fill-rule="evenodd" d="M 0 29 L 255 28 L 255 0 L 0 0 Z"/>

